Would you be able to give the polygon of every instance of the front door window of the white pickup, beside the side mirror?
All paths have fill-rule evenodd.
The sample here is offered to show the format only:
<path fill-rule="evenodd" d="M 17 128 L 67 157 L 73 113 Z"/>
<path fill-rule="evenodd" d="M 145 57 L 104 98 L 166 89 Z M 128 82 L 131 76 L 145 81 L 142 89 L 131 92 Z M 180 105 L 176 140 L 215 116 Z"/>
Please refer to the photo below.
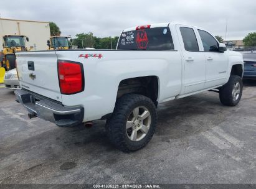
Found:
<path fill-rule="evenodd" d="M 198 32 L 202 40 L 204 51 L 218 51 L 218 42 L 211 34 L 204 30 L 198 30 Z"/>

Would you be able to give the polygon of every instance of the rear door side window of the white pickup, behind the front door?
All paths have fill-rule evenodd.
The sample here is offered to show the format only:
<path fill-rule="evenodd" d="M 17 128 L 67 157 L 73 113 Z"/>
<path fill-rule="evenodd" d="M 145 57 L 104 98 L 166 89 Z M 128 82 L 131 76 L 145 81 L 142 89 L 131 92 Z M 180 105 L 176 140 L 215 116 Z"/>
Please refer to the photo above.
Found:
<path fill-rule="evenodd" d="M 189 27 L 180 27 L 181 36 L 183 37 L 184 47 L 187 51 L 199 51 L 194 30 Z"/>

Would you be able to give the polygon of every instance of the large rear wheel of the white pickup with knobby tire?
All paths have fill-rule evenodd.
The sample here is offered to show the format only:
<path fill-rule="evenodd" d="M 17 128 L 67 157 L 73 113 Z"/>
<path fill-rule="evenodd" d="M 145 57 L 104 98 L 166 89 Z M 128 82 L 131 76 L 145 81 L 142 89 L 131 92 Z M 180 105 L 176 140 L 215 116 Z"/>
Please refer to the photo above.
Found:
<path fill-rule="evenodd" d="M 140 94 L 125 94 L 116 102 L 106 129 L 108 138 L 123 152 L 135 151 L 150 141 L 156 127 L 156 106 Z"/>

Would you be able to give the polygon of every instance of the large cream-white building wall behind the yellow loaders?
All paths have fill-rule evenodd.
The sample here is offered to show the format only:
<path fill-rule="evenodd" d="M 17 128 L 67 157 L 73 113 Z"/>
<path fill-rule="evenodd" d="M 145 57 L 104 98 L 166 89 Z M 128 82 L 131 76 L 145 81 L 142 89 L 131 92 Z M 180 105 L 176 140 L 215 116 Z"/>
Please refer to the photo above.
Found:
<path fill-rule="evenodd" d="M 29 37 L 26 47 L 32 50 L 47 50 L 47 40 L 50 39 L 49 22 L 22 21 L 0 18 L 0 51 L 2 50 L 2 37 L 4 35 L 26 35 Z"/>

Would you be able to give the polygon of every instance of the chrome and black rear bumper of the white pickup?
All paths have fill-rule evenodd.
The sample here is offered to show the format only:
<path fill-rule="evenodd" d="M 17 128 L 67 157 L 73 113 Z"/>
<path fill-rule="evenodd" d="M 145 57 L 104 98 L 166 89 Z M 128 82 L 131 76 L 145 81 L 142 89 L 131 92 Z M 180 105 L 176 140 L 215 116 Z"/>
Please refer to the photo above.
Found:
<path fill-rule="evenodd" d="M 83 107 L 65 107 L 53 100 L 25 90 L 16 90 L 17 101 L 29 111 L 29 117 L 54 122 L 60 127 L 76 126 L 83 121 Z"/>

